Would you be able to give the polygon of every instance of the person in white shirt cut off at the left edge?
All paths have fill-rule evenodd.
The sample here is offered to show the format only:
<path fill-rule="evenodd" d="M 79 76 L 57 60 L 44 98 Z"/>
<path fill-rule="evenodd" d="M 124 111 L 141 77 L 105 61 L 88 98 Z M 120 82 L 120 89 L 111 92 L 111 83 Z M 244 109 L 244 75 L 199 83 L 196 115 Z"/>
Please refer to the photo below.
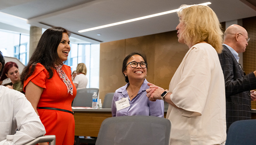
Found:
<path fill-rule="evenodd" d="M 0 75 L 4 64 L 0 52 Z M 14 135 L 15 144 L 23 145 L 45 133 L 44 125 L 25 95 L 0 86 L 0 145 L 6 141 L 6 135 Z"/>

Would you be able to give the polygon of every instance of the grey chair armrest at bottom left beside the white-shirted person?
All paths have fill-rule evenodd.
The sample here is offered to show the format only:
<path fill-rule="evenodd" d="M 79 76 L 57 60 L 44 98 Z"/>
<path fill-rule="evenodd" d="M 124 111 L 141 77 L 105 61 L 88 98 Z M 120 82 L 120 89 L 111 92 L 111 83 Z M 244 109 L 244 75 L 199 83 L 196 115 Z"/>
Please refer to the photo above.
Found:
<path fill-rule="evenodd" d="M 49 142 L 49 145 L 55 145 L 55 142 L 56 142 L 55 135 L 39 136 L 36 139 L 34 139 L 24 145 L 36 145 L 39 142 Z"/>

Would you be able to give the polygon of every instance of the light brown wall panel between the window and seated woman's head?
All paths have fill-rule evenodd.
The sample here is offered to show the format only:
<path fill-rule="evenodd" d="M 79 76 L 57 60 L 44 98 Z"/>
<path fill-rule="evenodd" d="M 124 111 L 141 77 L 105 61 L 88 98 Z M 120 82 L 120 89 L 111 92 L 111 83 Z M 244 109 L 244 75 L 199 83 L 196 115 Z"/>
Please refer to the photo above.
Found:
<path fill-rule="evenodd" d="M 99 99 L 125 85 L 122 61 L 125 58 L 125 40 L 100 44 Z"/>

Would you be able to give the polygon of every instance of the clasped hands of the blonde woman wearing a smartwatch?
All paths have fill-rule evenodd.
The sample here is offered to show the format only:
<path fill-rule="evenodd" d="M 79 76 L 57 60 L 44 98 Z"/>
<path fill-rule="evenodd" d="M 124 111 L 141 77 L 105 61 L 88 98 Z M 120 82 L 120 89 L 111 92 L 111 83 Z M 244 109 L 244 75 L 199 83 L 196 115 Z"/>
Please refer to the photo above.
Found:
<path fill-rule="evenodd" d="M 153 102 L 156 101 L 157 99 L 161 99 L 161 94 L 165 90 L 151 83 L 148 83 L 148 86 L 149 86 L 149 89 L 146 90 L 147 92 L 146 96 L 148 97 L 148 99 Z"/>

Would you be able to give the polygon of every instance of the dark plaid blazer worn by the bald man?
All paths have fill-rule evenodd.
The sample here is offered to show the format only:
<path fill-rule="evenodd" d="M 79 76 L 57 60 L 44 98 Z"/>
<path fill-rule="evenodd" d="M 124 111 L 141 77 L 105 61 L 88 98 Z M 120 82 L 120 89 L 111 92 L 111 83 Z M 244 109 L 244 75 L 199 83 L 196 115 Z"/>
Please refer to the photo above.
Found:
<path fill-rule="evenodd" d="M 233 122 L 251 119 L 250 90 L 256 89 L 256 77 L 254 73 L 245 75 L 227 46 L 223 45 L 222 53 L 218 57 L 225 79 L 228 131 Z"/>

